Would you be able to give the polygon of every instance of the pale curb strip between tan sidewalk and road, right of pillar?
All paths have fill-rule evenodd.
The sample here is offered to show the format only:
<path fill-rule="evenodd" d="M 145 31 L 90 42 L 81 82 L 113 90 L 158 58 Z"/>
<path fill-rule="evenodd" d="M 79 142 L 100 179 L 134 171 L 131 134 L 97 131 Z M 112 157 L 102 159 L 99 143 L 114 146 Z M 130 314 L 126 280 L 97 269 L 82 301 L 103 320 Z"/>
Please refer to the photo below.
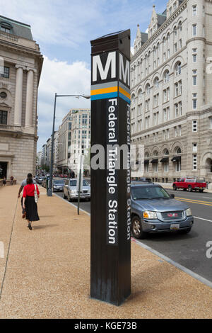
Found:
<path fill-rule="evenodd" d="M 172 264 L 173 266 L 177 267 L 177 269 L 180 269 L 181 271 L 184 271 L 184 273 L 187 273 L 189 276 L 192 276 L 192 278 L 196 278 L 196 280 L 200 281 L 201 283 L 204 283 L 206 286 L 212 288 L 212 282 L 204 278 L 203 276 L 200 276 L 199 274 L 194 273 L 193 271 L 190 271 L 190 269 L 187 269 L 186 267 L 178 264 L 176 261 L 173 261 L 172 259 L 168 258 L 167 256 L 164 256 L 158 251 L 155 251 L 152 247 L 148 247 L 148 245 L 139 242 L 137 239 L 134 239 L 134 242 L 136 244 L 140 245 L 140 247 L 143 247 L 144 249 L 147 249 L 149 252 L 155 254 L 156 256 L 159 256 L 161 259 L 167 261 L 169 264 Z"/>

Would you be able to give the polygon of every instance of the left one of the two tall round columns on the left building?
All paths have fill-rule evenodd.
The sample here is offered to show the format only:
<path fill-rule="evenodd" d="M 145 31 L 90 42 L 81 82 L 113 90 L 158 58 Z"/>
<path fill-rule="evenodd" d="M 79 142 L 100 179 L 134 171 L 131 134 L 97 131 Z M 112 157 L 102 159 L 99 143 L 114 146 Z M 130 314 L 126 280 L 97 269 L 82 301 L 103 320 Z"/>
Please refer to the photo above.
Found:
<path fill-rule="evenodd" d="M 15 111 L 14 111 L 15 126 L 21 126 L 24 69 L 25 69 L 24 66 L 16 64 L 16 96 L 15 96 Z"/>

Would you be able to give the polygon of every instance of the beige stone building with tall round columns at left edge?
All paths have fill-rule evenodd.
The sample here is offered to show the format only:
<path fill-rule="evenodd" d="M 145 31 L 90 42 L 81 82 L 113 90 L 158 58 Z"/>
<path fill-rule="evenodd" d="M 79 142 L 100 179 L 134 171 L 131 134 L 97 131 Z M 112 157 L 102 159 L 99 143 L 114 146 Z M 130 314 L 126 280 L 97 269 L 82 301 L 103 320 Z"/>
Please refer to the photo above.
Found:
<path fill-rule="evenodd" d="M 0 165 L 18 182 L 35 174 L 37 88 L 43 57 L 30 26 L 0 16 Z"/>

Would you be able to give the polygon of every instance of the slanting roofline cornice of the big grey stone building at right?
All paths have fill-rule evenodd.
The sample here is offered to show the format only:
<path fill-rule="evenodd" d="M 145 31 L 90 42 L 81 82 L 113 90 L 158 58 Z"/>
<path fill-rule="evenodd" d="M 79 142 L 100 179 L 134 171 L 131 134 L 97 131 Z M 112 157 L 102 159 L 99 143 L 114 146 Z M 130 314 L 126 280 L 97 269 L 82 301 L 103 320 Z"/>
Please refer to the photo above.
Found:
<path fill-rule="evenodd" d="M 152 35 L 151 38 L 149 38 L 146 41 L 146 43 L 144 43 L 143 46 L 141 46 L 141 48 L 131 58 L 131 62 L 136 60 L 136 58 L 139 57 L 139 55 L 141 55 L 141 53 L 144 50 L 146 50 L 146 48 L 148 48 L 148 46 L 150 46 L 151 43 L 153 43 L 153 41 L 155 39 L 158 38 L 158 36 L 163 32 L 163 30 L 165 30 L 165 28 L 167 28 L 167 26 L 169 26 L 170 23 L 172 23 L 172 21 L 174 21 L 177 16 L 179 16 L 179 13 L 181 13 L 182 11 L 184 11 L 185 8 L 187 8 L 187 1 L 188 0 L 185 0 L 184 2 L 182 2 L 182 4 L 176 9 L 176 11 L 174 13 L 172 13 L 172 16 L 167 18 L 167 20 L 163 23 L 162 26 L 160 26 L 160 28 L 154 33 L 154 35 Z"/>

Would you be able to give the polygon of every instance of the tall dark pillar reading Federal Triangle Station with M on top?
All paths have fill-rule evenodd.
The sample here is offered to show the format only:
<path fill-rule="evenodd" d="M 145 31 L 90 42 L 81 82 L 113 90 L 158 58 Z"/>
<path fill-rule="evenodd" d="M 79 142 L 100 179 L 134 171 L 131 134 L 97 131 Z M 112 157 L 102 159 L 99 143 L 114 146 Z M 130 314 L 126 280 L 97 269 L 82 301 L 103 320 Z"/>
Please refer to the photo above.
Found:
<path fill-rule="evenodd" d="M 130 30 L 91 47 L 90 295 L 121 305 L 131 294 Z"/>

